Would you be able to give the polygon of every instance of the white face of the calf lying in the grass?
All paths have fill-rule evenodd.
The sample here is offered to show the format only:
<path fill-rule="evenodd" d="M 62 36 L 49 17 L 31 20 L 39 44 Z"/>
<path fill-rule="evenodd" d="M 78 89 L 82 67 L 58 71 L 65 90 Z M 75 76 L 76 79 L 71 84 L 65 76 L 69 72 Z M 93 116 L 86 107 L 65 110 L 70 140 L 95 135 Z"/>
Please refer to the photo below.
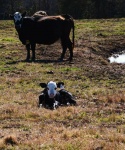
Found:
<path fill-rule="evenodd" d="M 57 89 L 56 82 L 50 81 L 47 84 L 49 98 L 54 98 L 56 96 L 57 93 L 56 89 Z"/>

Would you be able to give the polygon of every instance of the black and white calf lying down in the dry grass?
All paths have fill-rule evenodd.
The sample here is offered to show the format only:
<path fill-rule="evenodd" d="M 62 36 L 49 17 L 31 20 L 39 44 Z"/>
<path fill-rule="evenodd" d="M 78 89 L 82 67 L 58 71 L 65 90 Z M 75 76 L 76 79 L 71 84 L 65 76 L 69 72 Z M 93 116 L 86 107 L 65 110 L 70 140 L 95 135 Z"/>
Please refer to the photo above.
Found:
<path fill-rule="evenodd" d="M 72 94 L 64 89 L 63 82 L 50 81 L 47 84 L 40 83 L 40 86 L 44 90 L 39 95 L 39 107 L 56 109 L 61 105 L 76 105 Z M 60 90 L 58 91 L 57 88 Z"/>

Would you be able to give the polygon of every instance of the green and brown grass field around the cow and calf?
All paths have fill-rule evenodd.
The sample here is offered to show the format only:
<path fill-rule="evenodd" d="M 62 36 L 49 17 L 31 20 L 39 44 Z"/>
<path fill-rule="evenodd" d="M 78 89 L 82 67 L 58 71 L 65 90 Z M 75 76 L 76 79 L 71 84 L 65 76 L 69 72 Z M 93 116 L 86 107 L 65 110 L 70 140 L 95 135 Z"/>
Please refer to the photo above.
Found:
<path fill-rule="evenodd" d="M 124 150 L 125 19 L 75 20 L 72 63 L 58 62 L 60 43 L 37 45 L 36 62 L 12 21 L 0 21 L 0 150 Z M 53 72 L 50 74 L 50 72 Z M 63 81 L 77 106 L 37 107 L 40 82 Z"/>

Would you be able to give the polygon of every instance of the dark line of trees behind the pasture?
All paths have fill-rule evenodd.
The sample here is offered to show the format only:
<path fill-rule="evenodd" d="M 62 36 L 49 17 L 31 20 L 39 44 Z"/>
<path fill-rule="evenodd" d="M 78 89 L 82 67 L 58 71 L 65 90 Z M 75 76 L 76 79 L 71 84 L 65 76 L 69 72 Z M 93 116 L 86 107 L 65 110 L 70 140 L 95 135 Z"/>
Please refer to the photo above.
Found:
<path fill-rule="evenodd" d="M 70 14 L 75 19 L 125 17 L 125 0 L 0 0 L 0 19 L 15 11 L 32 15 L 44 10 L 48 15 Z"/>

